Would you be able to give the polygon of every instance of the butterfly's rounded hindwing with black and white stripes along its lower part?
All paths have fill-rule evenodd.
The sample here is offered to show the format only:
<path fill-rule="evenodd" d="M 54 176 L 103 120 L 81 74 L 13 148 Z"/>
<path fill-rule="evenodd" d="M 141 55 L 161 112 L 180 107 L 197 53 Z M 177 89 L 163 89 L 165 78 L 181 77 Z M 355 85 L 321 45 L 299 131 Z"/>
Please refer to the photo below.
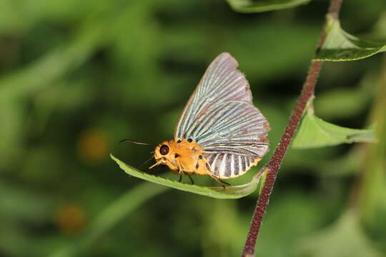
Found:
<path fill-rule="evenodd" d="M 214 176 L 233 178 L 267 152 L 268 130 L 267 120 L 252 104 L 229 101 L 210 107 L 189 136 L 204 148 Z"/>

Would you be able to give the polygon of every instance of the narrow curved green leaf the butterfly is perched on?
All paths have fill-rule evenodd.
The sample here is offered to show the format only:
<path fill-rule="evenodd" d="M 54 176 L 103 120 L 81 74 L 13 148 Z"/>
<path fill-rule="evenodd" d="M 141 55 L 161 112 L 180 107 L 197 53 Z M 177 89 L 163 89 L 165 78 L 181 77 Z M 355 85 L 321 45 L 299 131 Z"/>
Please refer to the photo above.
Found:
<path fill-rule="evenodd" d="M 119 167 L 122 168 L 124 172 L 128 173 L 129 175 L 135 176 L 137 178 L 142 178 L 146 181 L 150 181 L 153 183 L 158 183 L 163 186 L 169 186 L 182 191 L 197 193 L 202 196 L 210 196 L 213 198 L 219 198 L 219 199 L 242 198 L 256 191 L 259 183 L 259 178 L 254 176 L 252 178 L 252 181 L 249 183 L 245 183 L 239 186 L 227 186 L 226 188 L 223 188 L 222 186 L 191 185 L 187 183 L 172 181 L 168 178 L 162 178 L 160 176 L 154 176 L 149 173 L 139 171 L 137 170 L 137 168 L 133 168 L 132 166 L 129 166 L 123 161 L 120 161 L 119 159 L 115 158 L 112 154 L 110 154 L 110 156 L 114 161 L 118 163 Z"/>

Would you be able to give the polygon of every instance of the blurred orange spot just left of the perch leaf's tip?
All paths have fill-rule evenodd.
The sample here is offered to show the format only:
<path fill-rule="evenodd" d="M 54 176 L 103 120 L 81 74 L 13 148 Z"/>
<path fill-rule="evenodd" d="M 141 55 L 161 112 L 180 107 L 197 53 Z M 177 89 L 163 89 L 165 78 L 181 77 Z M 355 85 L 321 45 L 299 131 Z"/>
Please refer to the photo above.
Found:
<path fill-rule="evenodd" d="M 87 129 L 79 136 L 78 152 L 86 163 L 98 163 L 109 154 L 109 141 L 103 131 Z"/>

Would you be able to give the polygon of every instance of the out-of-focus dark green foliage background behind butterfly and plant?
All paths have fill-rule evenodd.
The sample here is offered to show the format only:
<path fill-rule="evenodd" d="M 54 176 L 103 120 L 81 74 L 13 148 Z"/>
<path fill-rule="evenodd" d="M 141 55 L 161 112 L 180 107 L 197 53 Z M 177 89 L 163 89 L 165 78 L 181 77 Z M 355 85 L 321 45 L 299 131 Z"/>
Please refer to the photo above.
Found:
<path fill-rule="evenodd" d="M 119 140 L 172 138 L 207 65 L 228 51 L 272 127 L 264 164 L 327 6 L 237 14 L 222 0 L 0 0 L 0 256 L 239 256 L 256 193 L 217 200 L 158 186 L 109 153 L 146 161 L 152 147 Z M 341 22 L 386 39 L 386 2 L 345 1 Z M 380 142 L 290 149 L 258 256 L 386 256 L 385 56 L 326 63 L 316 95 L 322 119 L 380 125 Z"/>

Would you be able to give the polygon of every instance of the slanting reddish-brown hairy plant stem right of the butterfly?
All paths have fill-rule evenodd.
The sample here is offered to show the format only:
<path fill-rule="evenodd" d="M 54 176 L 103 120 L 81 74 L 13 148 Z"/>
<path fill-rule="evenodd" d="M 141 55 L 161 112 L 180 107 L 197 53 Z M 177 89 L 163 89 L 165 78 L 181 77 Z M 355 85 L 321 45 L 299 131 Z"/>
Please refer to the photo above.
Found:
<path fill-rule="evenodd" d="M 330 8 L 327 15 L 331 15 L 335 19 L 339 16 L 340 6 L 342 0 L 330 0 Z M 326 38 L 326 31 L 323 29 L 322 35 L 320 36 L 320 42 L 317 46 L 317 51 L 322 47 L 323 42 Z M 262 168 L 262 170 L 267 171 L 267 177 L 265 178 L 265 183 L 260 193 L 259 199 L 257 200 L 256 208 L 254 209 L 254 214 L 252 217 L 252 223 L 249 228 L 247 240 L 245 241 L 244 250 L 242 251 L 242 257 L 252 257 L 254 256 L 254 247 L 256 245 L 257 236 L 259 235 L 259 230 L 262 225 L 262 218 L 266 212 L 269 196 L 272 193 L 272 188 L 274 186 L 274 180 L 279 171 L 280 165 L 282 164 L 285 153 L 287 152 L 289 143 L 291 143 L 297 126 L 300 124 L 302 119 L 302 114 L 305 111 L 307 103 L 314 96 L 315 84 L 317 82 L 317 77 L 320 74 L 320 69 L 322 68 L 321 61 L 312 61 L 310 70 L 308 71 L 305 84 L 303 85 L 302 93 L 300 94 L 299 99 L 297 100 L 297 105 L 295 110 L 292 113 L 292 116 L 289 119 L 287 128 L 285 129 L 282 138 L 280 139 L 279 144 L 274 150 L 272 158 L 267 163 L 267 166 Z M 260 173 L 260 172 L 259 172 Z"/>

